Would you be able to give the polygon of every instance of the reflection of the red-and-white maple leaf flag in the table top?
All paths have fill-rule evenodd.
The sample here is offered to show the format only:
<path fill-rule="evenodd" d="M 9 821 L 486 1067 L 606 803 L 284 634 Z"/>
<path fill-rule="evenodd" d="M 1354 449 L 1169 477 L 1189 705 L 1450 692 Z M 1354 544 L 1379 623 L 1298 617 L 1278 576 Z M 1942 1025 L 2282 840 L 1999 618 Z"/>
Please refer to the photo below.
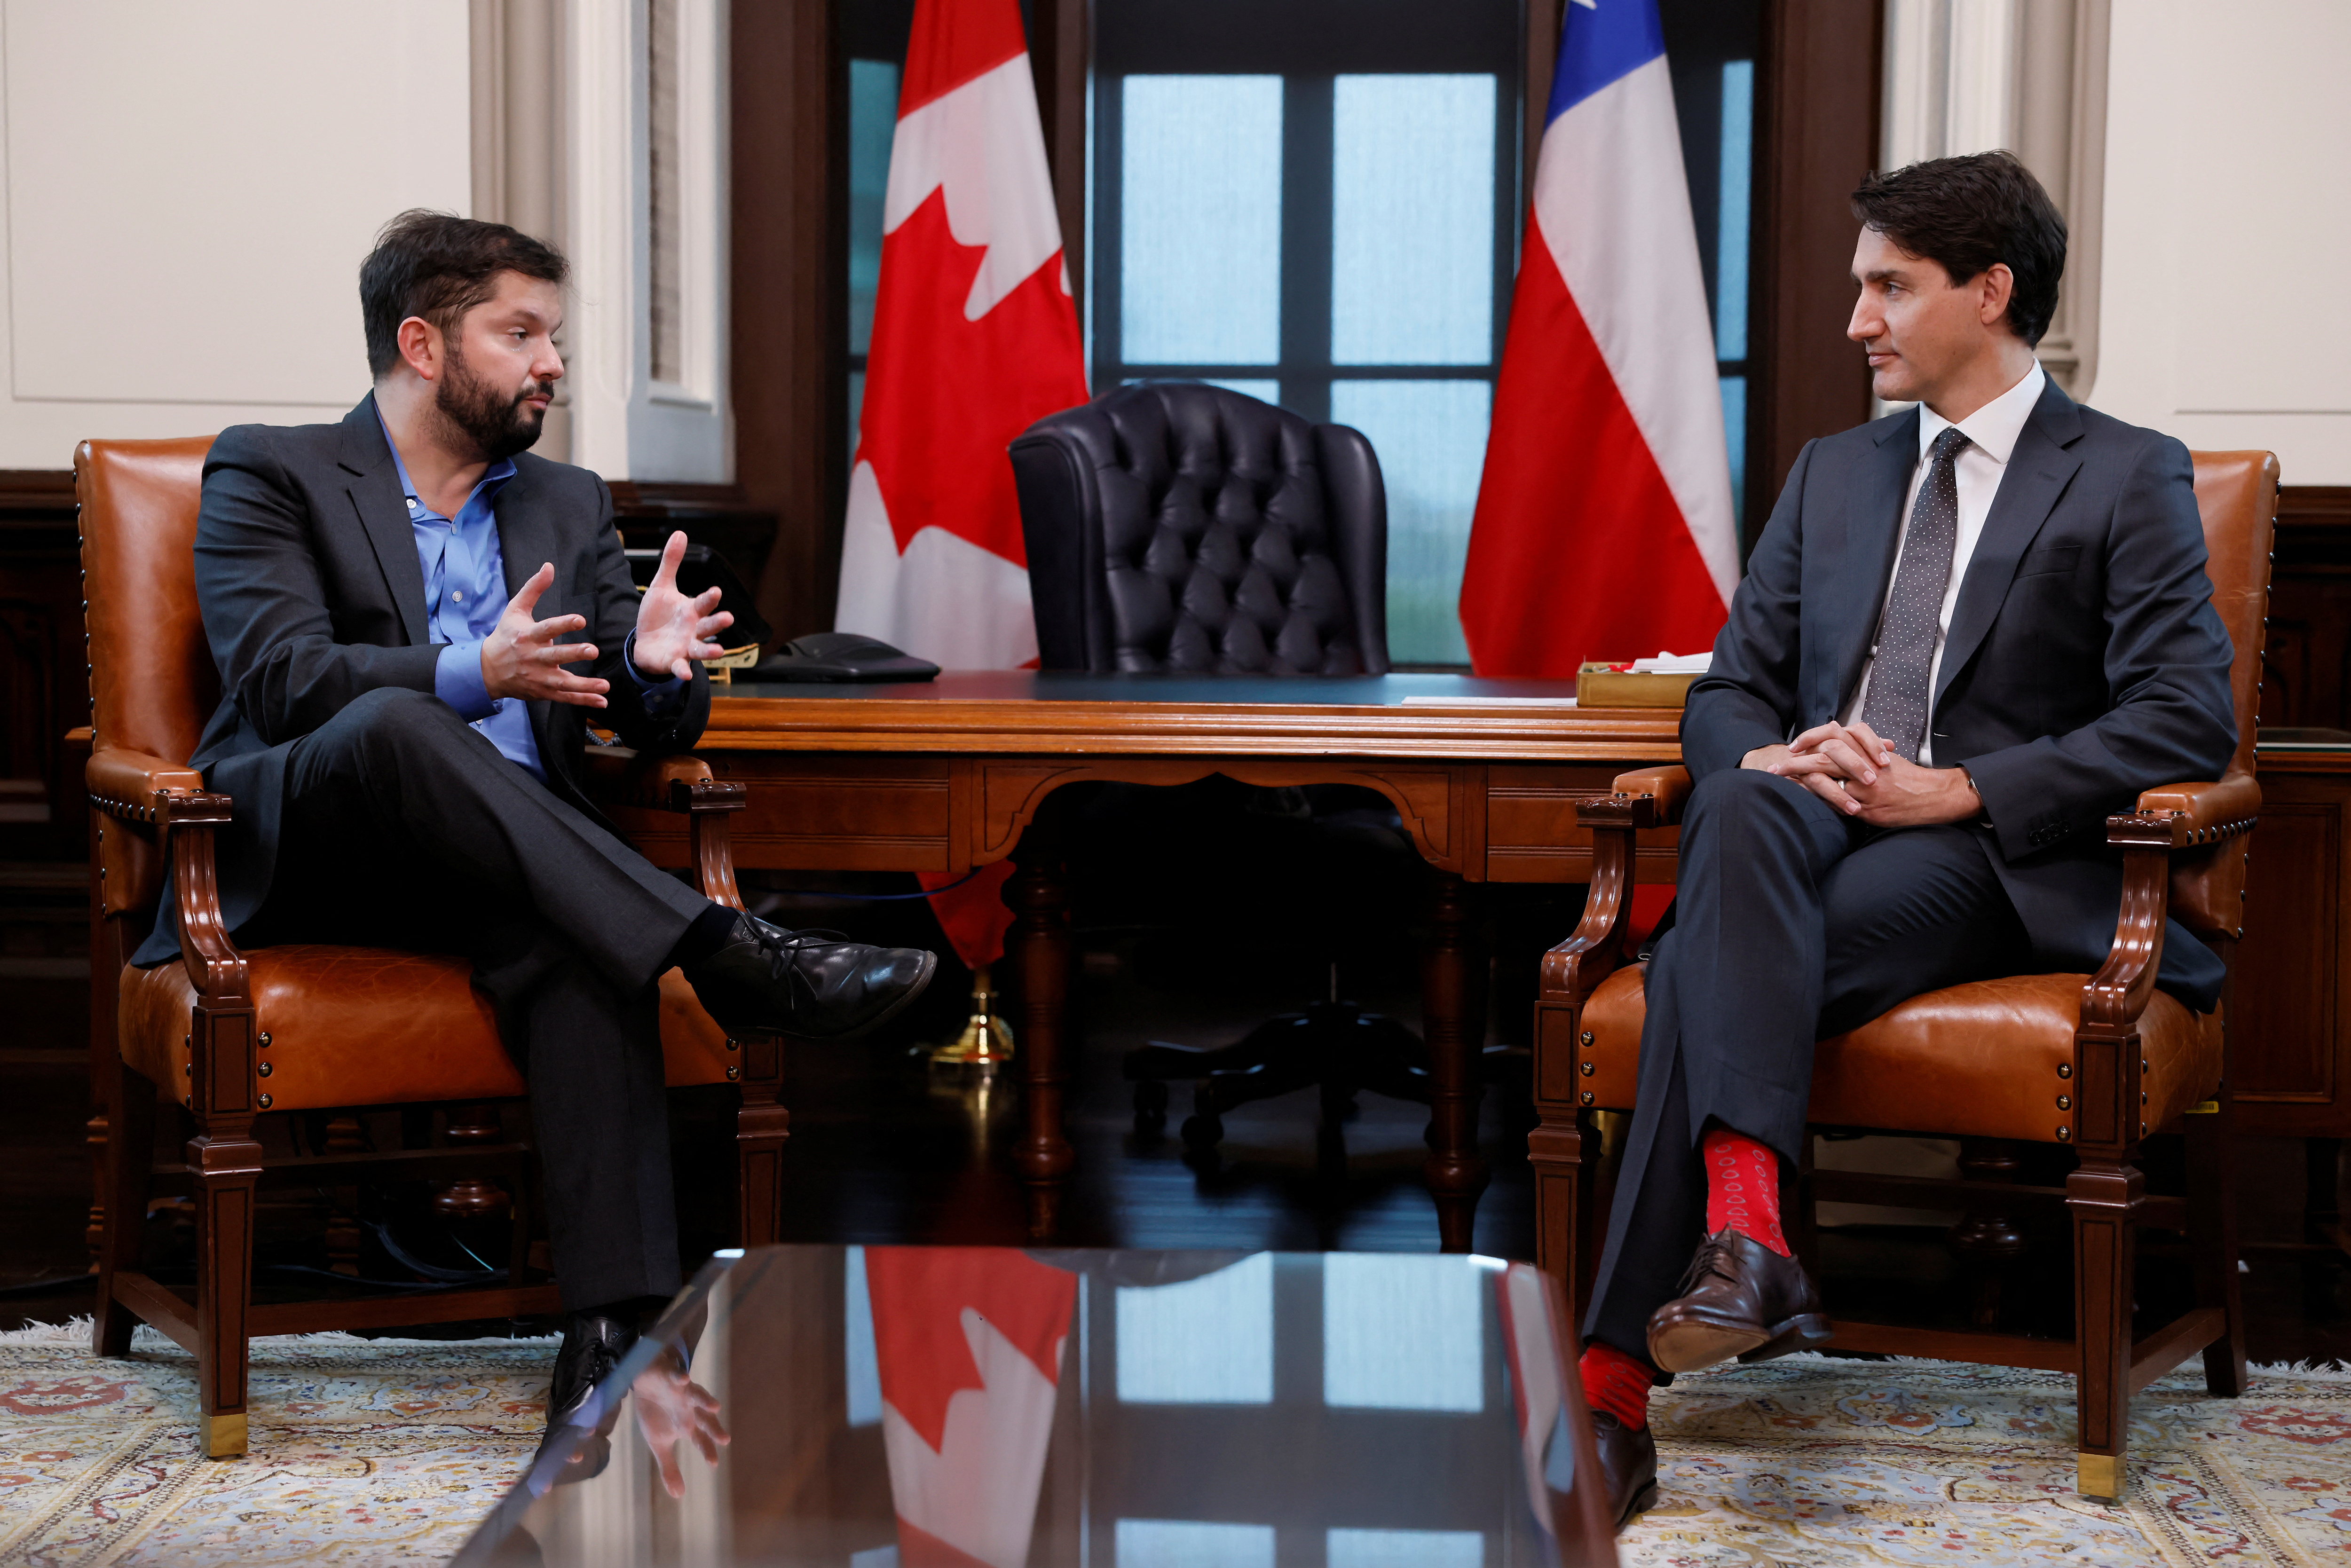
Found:
<path fill-rule="evenodd" d="M 903 1568 L 1023 1568 L 1077 1274 L 985 1246 L 870 1246 Z"/>

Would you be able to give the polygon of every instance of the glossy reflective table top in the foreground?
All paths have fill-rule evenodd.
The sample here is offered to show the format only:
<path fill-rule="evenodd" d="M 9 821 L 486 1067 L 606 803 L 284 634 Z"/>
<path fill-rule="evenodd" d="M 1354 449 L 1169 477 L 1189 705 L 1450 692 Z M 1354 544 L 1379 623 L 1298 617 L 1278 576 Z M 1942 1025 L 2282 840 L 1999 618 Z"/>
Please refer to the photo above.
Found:
<path fill-rule="evenodd" d="M 722 1253 L 456 1563 L 1615 1563 L 1568 1345 L 1491 1258 Z"/>

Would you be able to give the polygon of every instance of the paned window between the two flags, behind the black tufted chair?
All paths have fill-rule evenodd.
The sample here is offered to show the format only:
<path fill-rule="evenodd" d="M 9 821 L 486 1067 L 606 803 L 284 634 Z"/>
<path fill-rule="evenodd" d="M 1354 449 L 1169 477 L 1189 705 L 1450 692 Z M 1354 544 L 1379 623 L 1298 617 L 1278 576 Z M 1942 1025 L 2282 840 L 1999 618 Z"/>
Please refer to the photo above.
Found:
<path fill-rule="evenodd" d="M 1467 661 L 1519 38 L 1507 0 L 1096 5 L 1091 381 L 1213 381 L 1364 430 L 1399 663 Z"/>

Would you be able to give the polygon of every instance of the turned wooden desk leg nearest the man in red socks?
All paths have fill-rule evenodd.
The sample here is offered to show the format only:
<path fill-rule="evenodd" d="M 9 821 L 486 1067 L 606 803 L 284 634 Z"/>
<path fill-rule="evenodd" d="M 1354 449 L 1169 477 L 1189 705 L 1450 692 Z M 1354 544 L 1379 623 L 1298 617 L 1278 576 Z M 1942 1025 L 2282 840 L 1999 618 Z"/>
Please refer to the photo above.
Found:
<path fill-rule="evenodd" d="M 1444 1251 L 1467 1253 L 1486 1161 L 1476 1152 L 1479 1048 L 1486 1044 L 1486 973 L 1469 929 L 1469 889 L 1436 872 L 1429 889 L 1429 947 L 1420 959 L 1420 1032 L 1429 1046 L 1429 1157 Z"/>

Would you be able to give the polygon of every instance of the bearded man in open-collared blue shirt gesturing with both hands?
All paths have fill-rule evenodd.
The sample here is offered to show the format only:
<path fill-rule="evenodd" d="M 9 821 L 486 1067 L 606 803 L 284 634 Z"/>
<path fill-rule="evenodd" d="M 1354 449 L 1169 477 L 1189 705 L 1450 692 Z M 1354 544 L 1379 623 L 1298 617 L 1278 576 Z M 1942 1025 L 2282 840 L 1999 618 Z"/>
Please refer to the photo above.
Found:
<path fill-rule="evenodd" d="M 564 273 L 503 223 L 407 212 L 360 268 L 374 390 L 339 425 L 212 444 L 195 588 L 221 705 L 190 759 L 235 799 L 240 940 L 473 959 L 531 1084 L 569 1309 L 550 1429 L 677 1288 L 658 976 L 682 966 L 729 1027 L 839 1039 L 936 966 L 715 905 L 581 790 L 590 715 L 694 745 L 731 616 L 677 590 L 682 534 L 639 597 L 604 482 L 529 454 Z M 176 952 L 165 919 L 139 961 Z"/>

